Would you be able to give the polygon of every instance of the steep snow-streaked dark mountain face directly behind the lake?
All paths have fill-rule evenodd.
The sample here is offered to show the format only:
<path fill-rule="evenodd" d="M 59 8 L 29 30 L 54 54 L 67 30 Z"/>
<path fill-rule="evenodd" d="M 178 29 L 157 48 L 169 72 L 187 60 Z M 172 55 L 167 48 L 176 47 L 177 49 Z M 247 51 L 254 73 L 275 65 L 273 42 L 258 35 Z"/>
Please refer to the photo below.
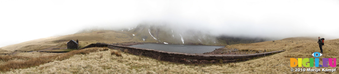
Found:
<path fill-rule="evenodd" d="M 169 44 L 224 45 L 217 43 L 215 37 L 199 31 L 180 31 L 165 25 L 138 25 L 124 30 L 135 34 L 136 39 Z M 216 43 L 214 43 L 216 42 Z"/>

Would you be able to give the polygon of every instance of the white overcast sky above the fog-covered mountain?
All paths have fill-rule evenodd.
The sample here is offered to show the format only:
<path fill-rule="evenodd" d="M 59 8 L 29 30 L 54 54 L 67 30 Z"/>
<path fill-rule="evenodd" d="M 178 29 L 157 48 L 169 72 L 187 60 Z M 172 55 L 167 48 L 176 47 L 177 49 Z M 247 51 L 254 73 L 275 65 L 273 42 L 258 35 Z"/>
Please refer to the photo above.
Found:
<path fill-rule="evenodd" d="M 338 39 L 338 13 L 338 0 L 0 0 L 0 47 L 140 22 L 216 35 Z"/>

